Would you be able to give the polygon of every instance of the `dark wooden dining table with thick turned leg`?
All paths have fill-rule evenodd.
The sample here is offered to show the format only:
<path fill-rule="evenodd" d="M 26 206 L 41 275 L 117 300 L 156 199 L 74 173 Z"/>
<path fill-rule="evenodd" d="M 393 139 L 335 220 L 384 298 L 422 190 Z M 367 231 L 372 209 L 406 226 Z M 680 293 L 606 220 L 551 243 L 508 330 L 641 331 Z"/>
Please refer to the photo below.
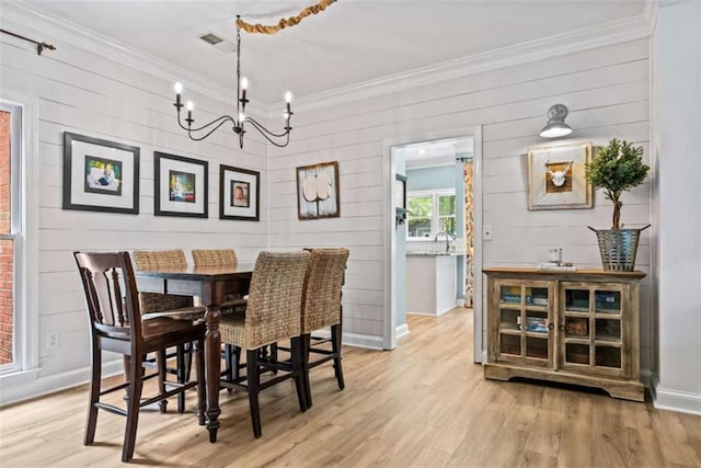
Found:
<path fill-rule="evenodd" d="M 230 266 L 187 266 L 184 269 L 159 269 L 135 272 L 137 288 L 143 293 L 175 294 L 199 297 L 206 307 L 205 323 L 205 377 L 207 408 L 204 423 L 209 432 L 209 442 L 217 442 L 219 430 L 219 379 L 221 373 L 221 336 L 219 334 L 219 307 L 231 294 L 249 293 L 253 263 L 237 263 Z M 199 414 L 200 424 L 203 415 Z"/>

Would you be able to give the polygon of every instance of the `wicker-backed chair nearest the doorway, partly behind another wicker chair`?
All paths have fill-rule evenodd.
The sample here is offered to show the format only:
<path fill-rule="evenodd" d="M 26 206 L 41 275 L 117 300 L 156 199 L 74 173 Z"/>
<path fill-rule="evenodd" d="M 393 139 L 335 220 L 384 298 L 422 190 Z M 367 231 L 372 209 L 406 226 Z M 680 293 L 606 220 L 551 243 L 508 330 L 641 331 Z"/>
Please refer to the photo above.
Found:
<path fill-rule="evenodd" d="M 348 254 L 349 251 L 343 248 L 311 249 L 301 313 L 302 374 L 308 408 L 312 406 L 309 379 L 311 368 L 333 361 L 338 389 L 345 388 L 343 367 L 341 366 L 343 324 L 341 289 Z M 326 327 L 331 328 L 330 339 L 312 336 L 312 332 Z M 322 346 L 329 341 L 331 350 L 327 349 L 327 345 Z M 322 357 L 310 361 L 310 354 L 322 355 Z"/>

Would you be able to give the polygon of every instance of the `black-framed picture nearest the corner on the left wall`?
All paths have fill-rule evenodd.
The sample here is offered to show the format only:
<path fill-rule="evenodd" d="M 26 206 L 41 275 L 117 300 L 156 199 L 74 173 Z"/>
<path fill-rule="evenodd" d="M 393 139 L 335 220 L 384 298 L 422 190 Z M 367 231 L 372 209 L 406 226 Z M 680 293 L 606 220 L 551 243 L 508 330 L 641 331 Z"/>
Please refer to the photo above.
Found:
<path fill-rule="evenodd" d="M 261 173 L 248 169 L 219 167 L 219 219 L 257 221 Z"/>

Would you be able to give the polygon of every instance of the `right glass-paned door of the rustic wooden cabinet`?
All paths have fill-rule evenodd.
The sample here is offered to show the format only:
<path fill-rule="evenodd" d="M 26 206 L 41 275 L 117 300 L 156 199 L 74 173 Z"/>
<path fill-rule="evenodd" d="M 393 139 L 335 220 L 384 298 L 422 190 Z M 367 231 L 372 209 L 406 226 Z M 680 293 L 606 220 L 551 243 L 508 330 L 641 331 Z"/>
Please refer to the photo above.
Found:
<path fill-rule="evenodd" d="M 624 376 L 625 285 L 562 283 L 562 367 L 583 373 Z"/>

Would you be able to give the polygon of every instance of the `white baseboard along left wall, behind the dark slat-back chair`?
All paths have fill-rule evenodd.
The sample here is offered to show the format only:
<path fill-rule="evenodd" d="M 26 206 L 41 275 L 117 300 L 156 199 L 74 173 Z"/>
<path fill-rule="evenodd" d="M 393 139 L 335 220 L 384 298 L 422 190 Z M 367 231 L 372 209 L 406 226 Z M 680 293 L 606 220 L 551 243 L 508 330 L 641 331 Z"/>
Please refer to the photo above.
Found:
<path fill-rule="evenodd" d="M 103 377 L 122 374 L 123 372 L 124 363 L 122 359 L 110 361 L 102 365 Z M 16 384 L 5 385 L 3 383 L 0 391 L 0 408 L 88 384 L 90 374 L 90 367 L 88 366 L 36 379 L 22 380 Z"/>

